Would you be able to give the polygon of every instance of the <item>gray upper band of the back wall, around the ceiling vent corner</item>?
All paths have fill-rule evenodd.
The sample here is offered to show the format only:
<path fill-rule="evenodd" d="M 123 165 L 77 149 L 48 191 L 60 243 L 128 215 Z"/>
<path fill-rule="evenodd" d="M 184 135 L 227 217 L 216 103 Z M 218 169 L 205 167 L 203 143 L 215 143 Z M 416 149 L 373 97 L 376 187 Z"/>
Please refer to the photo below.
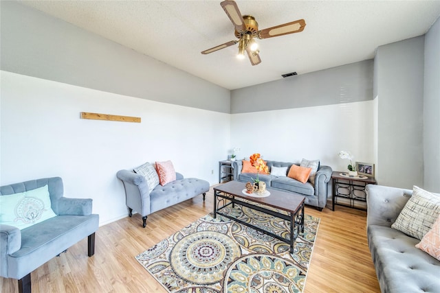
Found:
<path fill-rule="evenodd" d="M 249 113 L 373 99 L 373 60 L 294 75 L 231 91 L 231 113 Z"/>

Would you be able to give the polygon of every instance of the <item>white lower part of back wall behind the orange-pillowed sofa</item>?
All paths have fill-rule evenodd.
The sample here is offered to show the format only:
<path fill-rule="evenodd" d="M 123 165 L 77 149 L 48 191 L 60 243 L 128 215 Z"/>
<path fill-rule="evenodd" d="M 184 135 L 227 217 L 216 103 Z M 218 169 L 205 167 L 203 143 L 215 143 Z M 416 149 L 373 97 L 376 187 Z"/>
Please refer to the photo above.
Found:
<path fill-rule="evenodd" d="M 264 159 L 300 162 L 320 159 L 322 165 L 345 171 L 348 150 L 355 161 L 375 163 L 373 100 L 329 106 L 231 115 L 231 145 L 238 159 L 259 152 Z M 354 161 L 353 161 L 354 163 Z"/>

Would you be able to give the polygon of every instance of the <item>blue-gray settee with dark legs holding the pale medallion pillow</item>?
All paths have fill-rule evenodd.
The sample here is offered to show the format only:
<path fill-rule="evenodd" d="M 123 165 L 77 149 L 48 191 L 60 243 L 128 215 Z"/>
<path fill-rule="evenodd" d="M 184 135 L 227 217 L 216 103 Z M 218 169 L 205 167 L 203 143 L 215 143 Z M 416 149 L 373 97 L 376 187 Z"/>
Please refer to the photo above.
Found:
<path fill-rule="evenodd" d="M 92 200 L 63 197 L 59 177 L 30 180 L 0 187 L 0 196 L 18 194 L 47 185 L 56 216 L 20 230 L 0 224 L 0 276 L 19 280 L 19 292 L 31 292 L 30 273 L 88 237 L 88 255 L 95 253 L 99 215 L 92 214 Z"/>

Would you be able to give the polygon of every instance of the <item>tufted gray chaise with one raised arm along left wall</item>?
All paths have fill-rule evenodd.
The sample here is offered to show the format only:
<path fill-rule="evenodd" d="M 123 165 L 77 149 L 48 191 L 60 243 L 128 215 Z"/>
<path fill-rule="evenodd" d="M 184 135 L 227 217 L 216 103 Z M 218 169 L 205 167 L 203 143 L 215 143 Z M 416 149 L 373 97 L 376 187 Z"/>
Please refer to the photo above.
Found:
<path fill-rule="evenodd" d="M 116 176 L 124 184 L 125 202 L 129 208 L 129 216 L 131 217 L 133 210 L 140 213 L 144 228 L 149 214 L 194 198 L 199 194 L 203 194 L 203 200 L 205 200 L 206 192 L 210 187 L 206 180 L 184 178 L 182 174 L 176 172 L 175 181 L 164 186 L 157 185 L 150 192 L 145 177 L 140 174 L 123 169 L 118 171 Z"/>

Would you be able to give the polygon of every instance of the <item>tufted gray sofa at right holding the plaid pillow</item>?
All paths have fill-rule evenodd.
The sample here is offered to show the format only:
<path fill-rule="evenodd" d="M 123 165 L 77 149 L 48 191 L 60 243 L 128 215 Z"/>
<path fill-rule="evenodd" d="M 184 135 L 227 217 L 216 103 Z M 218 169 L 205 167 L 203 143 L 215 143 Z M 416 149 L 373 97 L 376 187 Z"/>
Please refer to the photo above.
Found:
<path fill-rule="evenodd" d="M 367 185 L 366 193 L 368 242 L 382 292 L 440 292 L 440 261 L 415 247 L 419 239 L 391 228 L 412 190 Z"/>

